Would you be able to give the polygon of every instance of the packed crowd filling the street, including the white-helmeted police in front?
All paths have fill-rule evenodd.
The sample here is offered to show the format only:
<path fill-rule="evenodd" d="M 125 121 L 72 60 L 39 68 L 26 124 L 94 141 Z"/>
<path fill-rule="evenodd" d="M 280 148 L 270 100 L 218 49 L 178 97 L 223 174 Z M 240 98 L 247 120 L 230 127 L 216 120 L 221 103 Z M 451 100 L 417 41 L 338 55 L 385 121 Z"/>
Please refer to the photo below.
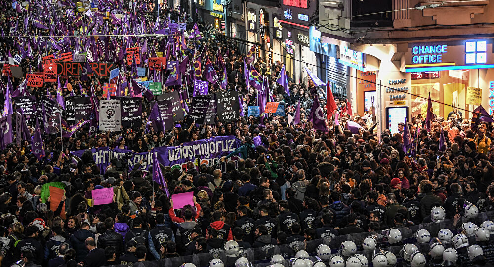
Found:
<path fill-rule="evenodd" d="M 71 8 L 55 7 L 54 13 Z M 141 8 L 146 13 L 151 7 Z M 29 49 L 27 43 L 19 48 L 21 34 L 48 34 L 28 20 L 16 20 L 22 10 L 7 5 L 4 11 L 3 29 L 18 23 L 12 34 L 16 38 L 1 39 L 6 54 Z M 159 17 L 176 22 L 182 12 L 162 9 Z M 70 25 L 67 16 L 60 20 Z M 192 25 L 188 21 L 189 32 Z M 0 152 L 1 266 L 288 266 L 290 258 L 297 267 L 494 264 L 491 123 L 472 123 L 463 119 L 466 112 L 454 109 L 448 117 L 436 118 L 430 129 L 418 118 L 393 125 L 395 134 L 377 132 L 372 112 L 352 114 L 345 97 L 335 95 L 337 115 L 327 122 L 328 132 L 322 132 L 313 129 L 308 114 L 314 101 L 326 112 L 326 91 L 310 79 L 296 83 L 287 73 L 286 92 L 276 82 L 283 63 L 269 65 L 261 58 L 248 68 L 268 77 L 269 95 L 285 103 L 287 116 L 248 116 L 247 107 L 258 105 L 259 92 L 248 82 L 246 86 L 246 54 L 220 32 L 201 24 L 199 29 L 203 38 L 188 38 L 183 56 L 192 61 L 204 47 L 210 58 L 225 55 L 228 84 L 210 84 L 209 92 L 238 91 L 246 115 L 210 125 L 178 122 L 172 130 L 158 132 L 149 126 L 150 102 L 143 97 L 140 129 L 89 133 L 82 127 L 70 138 L 57 131 L 43 133 L 46 157 L 41 160 L 31 151 L 32 140 L 16 135 Z M 39 58 L 55 50 L 51 45 L 33 50 L 19 65 L 24 73 L 36 73 Z M 178 60 L 177 55 L 170 59 Z M 100 56 L 100 62 L 106 61 Z M 130 78 L 130 66 L 116 64 Z M 221 75 L 220 65 L 214 66 Z M 18 88 L 24 80 L 2 76 L 2 81 Z M 71 77 L 62 96 L 89 94 L 94 87 L 94 96 L 102 99 L 105 82 L 102 77 Z M 192 95 L 192 88 L 181 87 Z M 56 99 L 56 89 L 56 83 L 45 82 L 27 91 L 40 101 L 46 94 Z M 163 93 L 176 89 L 163 86 Z M 293 125 L 288 114 L 294 115 L 298 104 L 300 122 Z M 350 120 L 361 126 L 358 133 L 347 129 Z M 31 137 L 39 129 L 33 124 L 29 130 Z M 404 149 L 406 130 L 416 136 L 412 151 Z M 134 166 L 123 173 L 117 159 L 101 170 L 91 151 L 78 162 L 70 156 L 101 147 L 139 153 L 214 136 L 235 136 L 241 145 L 217 165 L 190 161 L 182 170 L 160 165 L 170 196 L 153 182 L 152 171 Z M 56 207 L 43 193 L 43 185 L 52 182 L 63 184 Z M 91 191 L 102 188 L 113 188 L 113 202 L 92 205 Z M 171 195 L 183 192 L 193 193 L 194 205 L 174 209 Z"/>

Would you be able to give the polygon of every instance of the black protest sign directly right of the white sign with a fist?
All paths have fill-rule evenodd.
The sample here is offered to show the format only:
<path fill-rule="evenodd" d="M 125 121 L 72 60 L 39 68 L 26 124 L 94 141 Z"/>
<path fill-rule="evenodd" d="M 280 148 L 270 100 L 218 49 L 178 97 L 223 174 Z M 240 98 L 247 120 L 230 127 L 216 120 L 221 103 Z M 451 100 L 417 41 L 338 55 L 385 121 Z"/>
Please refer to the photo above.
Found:
<path fill-rule="evenodd" d="M 138 129 L 142 126 L 142 99 L 140 97 L 123 97 L 120 99 L 122 128 Z"/>

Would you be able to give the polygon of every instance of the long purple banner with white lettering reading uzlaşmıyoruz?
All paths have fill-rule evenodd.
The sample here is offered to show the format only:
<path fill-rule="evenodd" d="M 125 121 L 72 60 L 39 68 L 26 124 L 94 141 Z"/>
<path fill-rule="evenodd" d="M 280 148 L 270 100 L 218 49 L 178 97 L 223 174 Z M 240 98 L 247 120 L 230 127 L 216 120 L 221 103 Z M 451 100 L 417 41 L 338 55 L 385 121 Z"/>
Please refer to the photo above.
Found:
<path fill-rule="evenodd" d="M 222 156 L 228 155 L 241 145 L 240 140 L 234 136 L 216 136 L 209 139 L 186 142 L 178 147 L 154 148 L 151 153 L 156 151 L 158 161 L 164 166 L 182 169 L 182 165 L 185 165 L 187 162 L 194 162 L 196 155 L 200 156 L 199 164 L 206 164 L 208 166 L 216 165 Z M 85 150 L 77 150 L 71 152 L 72 159 L 75 163 L 80 160 L 84 151 Z M 144 159 L 144 163 L 140 167 L 141 170 L 147 170 L 148 166 L 152 163 L 149 152 L 134 153 L 131 150 L 112 149 L 110 147 L 91 149 L 91 152 L 93 153 L 94 162 L 98 165 L 101 173 L 106 171 L 106 167 L 110 165 L 112 158 L 116 157 L 121 159 L 125 153 L 132 154 L 132 157 L 127 162 L 129 171 L 131 171 L 141 159 Z M 232 160 L 236 159 L 238 159 L 238 157 L 232 157 Z"/>

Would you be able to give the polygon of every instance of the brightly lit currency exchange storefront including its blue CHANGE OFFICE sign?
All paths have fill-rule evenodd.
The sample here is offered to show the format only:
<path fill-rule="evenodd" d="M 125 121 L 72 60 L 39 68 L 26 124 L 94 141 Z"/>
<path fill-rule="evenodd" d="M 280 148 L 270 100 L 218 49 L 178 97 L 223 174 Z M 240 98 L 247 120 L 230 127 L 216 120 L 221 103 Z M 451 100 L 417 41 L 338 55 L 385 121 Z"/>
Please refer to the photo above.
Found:
<path fill-rule="evenodd" d="M 411 75 L 414 106 L 431 99 L 473 111 L 481 105 L 494 110 L 493 39 L 469 39 L 445 42 L 408 43 L 405 71 Z M 453 110 L 433 102 L 434 114 L 447 117 Z M 415 114 L 420 114 L 415 108 Z M 422 109 L 420 109 L 422 110 Z M 426 110 L 426 109 L 423 109 Z M 461 111 L 461 110 L 460 110 Z M 425 113 L 425 111 L 424 111 Z M 462 112 L 463 118 L 471 118 Z"/>

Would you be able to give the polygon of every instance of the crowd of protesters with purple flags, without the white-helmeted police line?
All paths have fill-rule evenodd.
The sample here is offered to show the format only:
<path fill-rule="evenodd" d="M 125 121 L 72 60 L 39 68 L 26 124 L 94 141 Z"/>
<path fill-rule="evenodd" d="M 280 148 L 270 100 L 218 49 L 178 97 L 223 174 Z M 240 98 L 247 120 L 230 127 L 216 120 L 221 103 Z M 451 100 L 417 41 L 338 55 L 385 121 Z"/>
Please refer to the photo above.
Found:
<path fill-rule="evenodd" d="M 230 240 L 260 248 L 259 260 L 275 245 L 300 242 L 313 253 L 308 241 L 324 236 L 427 223 L 435 206 L 455 224 L 466 220 L 464 203 L 494 209 L 494 120 L 482 106 L 437 117 L 429 97 L 425 120 L 377 132 L 374 110 L 354 114 L 307 67 L 308 82 L 298 84 L 283 62 L 257 56 L 263 47 L 241 54 L 237 41 L 181 10 L 79 3 L 3 2 L 1 266 L 214 257 Z M 73 63 L 80 72 L 66 75 L 60 66 Z M 116 75 L 91 63 L 112 63 Z M 146 80 L 159 82 L 158 92 Z M 236 92 L 238 117 L 186 123 L 195 98 L 221 92 Z M 184 118 L 171 127 L 157 104 L 170 93 L 178 93 Z M 68 114 L 69 97 L 88 99 L 87 117 Z M 100 114 L 100 101 L 119 97 L 139 99 L 140 126 L 100 130 L 99 117 L 111 116 Z M 33 100 L 33 113 L 18 103 L 23 98 Z M 178 168 L 160 161 L 159 149 L 228 136 L 236 146 L 217 161 L 191 156 Z M 102 168 L 97 149 L 132 158 Z M 191 202 L 174 208 L 181 193 Z M 301 249 L 284 248 L 287 256 Z"/>

